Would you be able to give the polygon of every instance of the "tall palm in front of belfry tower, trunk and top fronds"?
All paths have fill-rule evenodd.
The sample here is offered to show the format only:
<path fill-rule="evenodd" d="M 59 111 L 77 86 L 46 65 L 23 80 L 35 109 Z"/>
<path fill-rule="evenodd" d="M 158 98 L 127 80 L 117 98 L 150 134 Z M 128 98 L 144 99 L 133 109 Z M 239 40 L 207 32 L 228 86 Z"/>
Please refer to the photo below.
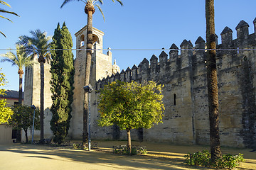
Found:
<path fill-rule="evenodd" d="M 65 4 L 73 0 L 65 0 L 63 4 L 60 6 L 62 8 Z M 82 0 L 78 0 L 82 1 Z M 112 0 L 114 2 L 114 0 Z M 122 1 L 116 0 L 119 2 L 119 4 L 122 4 Z M 85 3 L 85 13 L 87 14 L 87 40 L 86 40 L 86 62 L 85 62 L 85 86 L 89 85 L 89 79 L 90 79 L 90 67 L 91 67 L 91 61 L 92 61 L 92 15 L 95 13 L 95 6 L 100 10 L 100 13 L 102 13 L 102 9 L 98 4 L 95 4 L 96 2 L 100 2 L 100 4 L 103 4 L 102 0 L 85 0 L 82 1 Z M 102 16 L 104 18 L 104 15 L 102 13 Z M 104 18 L 105 19 L 105 18 Z M 84 105 L 83 105 L 83 128 L 82 128 L 82 143 L 83 146 L 85 146 L 85 143 L 87 143 L 88 133 L 87 133 L 87 111 L 88 109 L 88 98 L 87 94 L 84 94 Z"/>

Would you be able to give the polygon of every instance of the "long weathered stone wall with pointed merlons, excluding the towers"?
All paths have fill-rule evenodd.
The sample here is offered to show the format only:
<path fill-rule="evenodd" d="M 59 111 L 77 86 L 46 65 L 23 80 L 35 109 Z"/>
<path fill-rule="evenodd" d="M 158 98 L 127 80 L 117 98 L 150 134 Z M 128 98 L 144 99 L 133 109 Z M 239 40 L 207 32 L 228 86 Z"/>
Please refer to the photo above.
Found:
<path fill-rule="evenodd" d="M 256 142 L 256 18 L 253 23 L 255 33 L 249 35 L 249 25 L 240 21 L 235 28 L 237 39 L 234 40 L 233 30 L 225 27 L 220 34 L 222 43 L 217 46 L 217 49 L 238 49 L 217 51 L 220 140 L 223 146 L 252 147 Z M 128 67 L 95 84 L 97 91 L 117 79 L 127 82 L 153 80 L 164 84 L 164 123 L 149 130 L 133 130 L 133 140 L 209 144 L 206 52 L 198 50 L 205 49 L 206 42 L 199 37 L 195 44 L 193 47 L 191 41 L 183 40 L 180 55 L 178 47 L 173 44 L 169 55 L 163 51 L 159 59 L 155 55 L 150 61 L 144 58 L 138 67 L 134 64 L 132 69 Z M 95 94 L 92 138 L 126 139 L 126 132 L 116 126 L 99 130 L 96 121 L 99 94 Z"/>

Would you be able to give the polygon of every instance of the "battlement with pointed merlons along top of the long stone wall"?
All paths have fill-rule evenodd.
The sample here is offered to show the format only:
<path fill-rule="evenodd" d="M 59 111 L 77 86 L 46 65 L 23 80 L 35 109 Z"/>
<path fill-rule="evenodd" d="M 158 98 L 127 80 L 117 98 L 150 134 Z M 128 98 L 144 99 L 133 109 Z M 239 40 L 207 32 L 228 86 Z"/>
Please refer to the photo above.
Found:
<path fill-rule="evenodd" d="M 218 35 L 216 35 L 217 49 L 245 49 L 252 48 L 256 45 L 256 18 L 253 21 L 255 33 L 249 35 L 249 24 L 245 21 L 240 21 L 235 30 L 237 32 L 237 39 L 233 40 L 233 30 L 225 27 L 220 33 L 221 44 L 218 45 Z M 184 72 L 184 70 L 189 70 L 196 75 L 197 69 L 195 68 L 198 64 L 205 64 L 206 62 L 206 41 L 198 37 L 193 46 L 190 40 L 183 40 L 180 45 L 181 54 L 178 55 L 178 47 L 172 44 L 169 49 L 169 55 L 166 50 L 163 49 L 159 57 L 152 55 L 150 60 L 144 58 L 142 62 L 139 63 L 138 67 L 134 64 L 132 69 L 127 67 L 127 69 L 111 77 L 106 77 L 105 79 L 97 81 L 97 90 L 102 88 L 104 84 L 108 82 L 115 81 L 119 79 L 121 81 L 144 81 L 144 80 L 154 80 L 161 83 L 166 83 L 170 78 L 177 72 Z M 238 55 L 238 51 L 218 51 L 218 60 L 221 60 L 223 55 Z M 205 64 L 206 65 L 206 64 Z M 219 68 L 221 69 L 221 68 Z M 206 71 L 206 70 L 205 70 Z M 168 75 L 168 76 L 167 76 Z"/>

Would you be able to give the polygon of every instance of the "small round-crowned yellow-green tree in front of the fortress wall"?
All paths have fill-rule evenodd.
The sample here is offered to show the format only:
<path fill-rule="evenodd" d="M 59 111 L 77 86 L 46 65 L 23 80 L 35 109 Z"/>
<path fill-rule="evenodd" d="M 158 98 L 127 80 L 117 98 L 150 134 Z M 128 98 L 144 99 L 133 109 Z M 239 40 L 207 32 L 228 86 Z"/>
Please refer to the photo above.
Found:
<path fill-rule="evenodd" d="M 154 81 L 146 84 L 113 81 L 100 94 L 100 126 L 116 124 L 120 130 L 127 130 L 127 149 L 131 153 L 130 131 L 137 128 L 151 128 L 162 123 L 164 103 L 162 85 Z"/>

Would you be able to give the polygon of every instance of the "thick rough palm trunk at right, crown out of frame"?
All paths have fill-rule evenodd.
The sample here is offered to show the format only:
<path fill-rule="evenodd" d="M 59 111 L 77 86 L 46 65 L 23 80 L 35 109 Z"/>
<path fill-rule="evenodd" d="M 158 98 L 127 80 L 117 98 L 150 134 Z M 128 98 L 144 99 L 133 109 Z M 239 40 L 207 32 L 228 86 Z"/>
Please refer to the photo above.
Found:
<path fill-rule="evenodd" d="M 208 49 L 216 49 L 214 0 L 206 0 L 206 45 Z M 216 51 L 207 52 L 208 106 L 210 120 L 210 154 L 213 162 L 221 157 L 219 113 L 218 113 L 218 82 L 216 67 Z"/>

